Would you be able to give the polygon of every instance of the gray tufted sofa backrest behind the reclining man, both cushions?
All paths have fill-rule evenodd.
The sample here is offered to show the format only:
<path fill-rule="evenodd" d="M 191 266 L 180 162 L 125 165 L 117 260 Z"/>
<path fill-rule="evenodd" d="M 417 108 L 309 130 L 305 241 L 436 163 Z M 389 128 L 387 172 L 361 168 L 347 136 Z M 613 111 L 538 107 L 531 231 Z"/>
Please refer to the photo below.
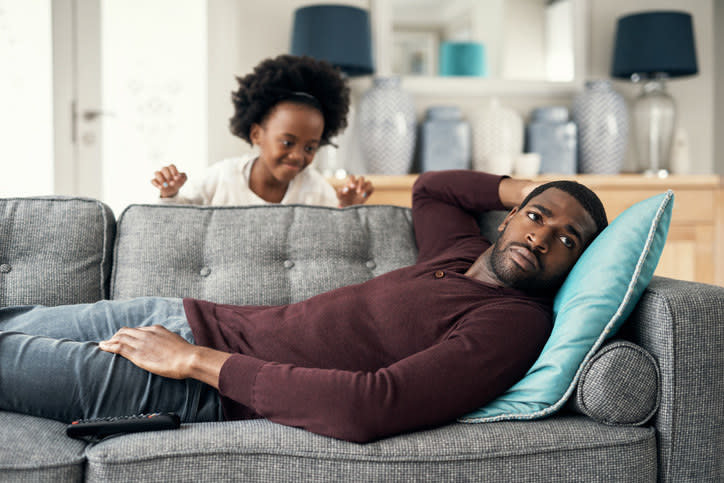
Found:
<path fill-rule="evenodd" d="M 503 212 L 481 218 L 494 237 Z M 0 307 L 145 295 L 294 302 L 415 262 L 411 211 L 0 199 Z"/>

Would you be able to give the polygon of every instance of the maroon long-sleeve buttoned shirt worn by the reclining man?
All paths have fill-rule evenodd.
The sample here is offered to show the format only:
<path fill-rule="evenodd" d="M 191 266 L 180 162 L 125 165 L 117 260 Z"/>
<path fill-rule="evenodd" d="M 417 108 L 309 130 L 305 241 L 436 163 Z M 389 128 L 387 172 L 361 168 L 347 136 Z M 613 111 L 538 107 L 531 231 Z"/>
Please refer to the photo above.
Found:
<path fill-rule="evenodd" d="M 500 179 L 421 175 L 410 267 L 283 306 L 185 299 L 197 344 L 233 354 L 225 417 L 365 442 L 453 421 L 519 380 L 550 333 L 550 300 L 464 275 L 490 246 L 473 212 L 503 208 Z"/>

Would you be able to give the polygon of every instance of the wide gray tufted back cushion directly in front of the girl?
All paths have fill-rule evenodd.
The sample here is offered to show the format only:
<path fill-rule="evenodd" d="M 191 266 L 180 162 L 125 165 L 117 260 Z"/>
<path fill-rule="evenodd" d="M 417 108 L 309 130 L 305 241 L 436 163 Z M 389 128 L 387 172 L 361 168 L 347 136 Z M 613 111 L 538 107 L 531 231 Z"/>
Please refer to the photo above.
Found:
<path fill-rule="evenodd" d="M 118 220 L 110 298 L 284 304 L 411 265 L 416 253 L 406 208 L 132 205 Z"/>

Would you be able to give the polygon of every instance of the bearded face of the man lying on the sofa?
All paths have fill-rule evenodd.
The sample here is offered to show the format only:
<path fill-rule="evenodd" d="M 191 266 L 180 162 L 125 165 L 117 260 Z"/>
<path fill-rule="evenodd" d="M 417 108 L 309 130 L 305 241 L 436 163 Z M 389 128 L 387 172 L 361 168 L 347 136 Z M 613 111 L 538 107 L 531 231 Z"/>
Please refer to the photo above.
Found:
<path fill-rule="evenodd" d="M 503 285 L 530 293 L 556 290 L 596 232 L 591 215 L 565 191 L 549 188 L 498 227 L 489 265 Z"/>

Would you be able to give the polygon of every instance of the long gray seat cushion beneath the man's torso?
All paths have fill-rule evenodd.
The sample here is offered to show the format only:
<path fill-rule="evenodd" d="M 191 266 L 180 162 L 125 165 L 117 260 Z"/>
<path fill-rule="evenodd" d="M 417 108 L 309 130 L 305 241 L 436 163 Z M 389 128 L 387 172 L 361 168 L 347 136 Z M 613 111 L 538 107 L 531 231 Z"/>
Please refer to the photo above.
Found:
<path fill-rule="evenodd" d="M 87 451 L 89 481 L 655 481 L 652 428 L 580 415 L 451 424 L 368 444 L 267 420 L 182 425 Z M 610 462 L 615 461 L 615 465 Z"/>

